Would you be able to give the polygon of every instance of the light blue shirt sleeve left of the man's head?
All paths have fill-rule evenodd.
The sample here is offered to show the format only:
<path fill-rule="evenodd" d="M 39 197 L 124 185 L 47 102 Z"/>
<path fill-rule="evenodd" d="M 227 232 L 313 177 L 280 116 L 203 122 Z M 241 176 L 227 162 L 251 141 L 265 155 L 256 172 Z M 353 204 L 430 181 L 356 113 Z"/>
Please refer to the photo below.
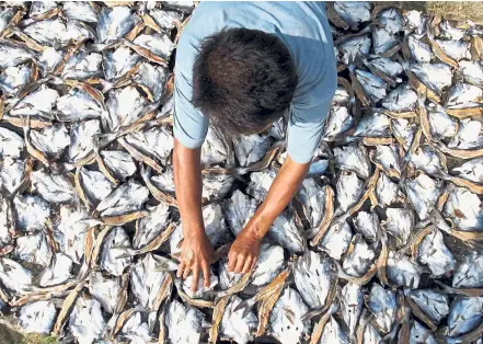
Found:
<path fill-rule="evenodd" d="M 208 118 L 192 104 L 193 62 L 197 53 L 192 36 L 182 36 L 176 51 L 174 81 L 174 137 L 186 148 L 202 147 L 208 131 Z"/>

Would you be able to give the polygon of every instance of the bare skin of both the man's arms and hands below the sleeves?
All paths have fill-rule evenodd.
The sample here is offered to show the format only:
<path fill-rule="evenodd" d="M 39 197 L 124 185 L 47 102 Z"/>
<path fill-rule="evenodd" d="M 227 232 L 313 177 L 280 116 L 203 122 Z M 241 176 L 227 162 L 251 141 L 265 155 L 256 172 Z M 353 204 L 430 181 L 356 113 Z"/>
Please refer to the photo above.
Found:
<path fill-rule="evenodd" d="M 240 274 L 254 267 L 262 239 L 299 190 L 309 167 L 310 162 L 299 164 L 287 157 L 265 200 L 231 245 L 228 271 Z M 189 149 L 174 139 L 173 169 L 184 237 L 177 277 L 186 278 L 193 273 L 192 289 L 195 291 L 202 272 L 205 287 L 209 286 L 214 252 L 203 222 L 200 148 Z"/>

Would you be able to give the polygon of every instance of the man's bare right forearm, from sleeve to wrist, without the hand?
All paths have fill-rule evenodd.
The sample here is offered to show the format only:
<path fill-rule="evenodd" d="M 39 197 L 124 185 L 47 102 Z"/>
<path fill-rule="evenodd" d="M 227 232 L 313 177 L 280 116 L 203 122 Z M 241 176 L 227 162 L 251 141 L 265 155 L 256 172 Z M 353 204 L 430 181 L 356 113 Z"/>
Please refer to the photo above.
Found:
<path fill-rule="evenodd" d="M 260 239 L 265 237 L 272 223 L 299 190 L 309 167 L 310 163 L 299 164 L 287 157 L 265 200 L 251 219 L 253 226 L 248 226 L 254 229 L 254 236 Z"/>

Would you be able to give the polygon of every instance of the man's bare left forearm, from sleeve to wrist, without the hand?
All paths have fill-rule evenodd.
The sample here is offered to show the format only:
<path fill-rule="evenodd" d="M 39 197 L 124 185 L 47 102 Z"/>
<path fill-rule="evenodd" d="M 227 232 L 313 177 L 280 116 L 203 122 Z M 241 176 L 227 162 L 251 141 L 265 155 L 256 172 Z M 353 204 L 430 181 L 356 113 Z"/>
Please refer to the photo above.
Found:
<path fill-rule="evenodd" d="M 175 139 L 173 172 L 176 200 L 183 220 L 183 234 L 186 238 L 204 233 L 200 149 L 185 148 Z"/>

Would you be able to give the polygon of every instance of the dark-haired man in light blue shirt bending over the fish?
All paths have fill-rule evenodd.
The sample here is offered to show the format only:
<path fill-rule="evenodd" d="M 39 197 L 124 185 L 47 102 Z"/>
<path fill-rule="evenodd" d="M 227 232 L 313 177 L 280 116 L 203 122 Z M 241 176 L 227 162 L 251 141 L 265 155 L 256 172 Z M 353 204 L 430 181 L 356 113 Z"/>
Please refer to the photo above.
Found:
<path fill-rule="evenodd" d="M 202 215 L 200 146 L 208 122 L 235 136 L 288 119 L 288 157 L 228 255 L 229 271 L 246 273 L 303 181 L 335 87 L 323 2 L 202 2 L 196 8 L 176 51 L 173 156 L 184 236 L 177 276 L 193 273 L 193 290 L 202 274 L 209 286 L 212 254 Z"/>

